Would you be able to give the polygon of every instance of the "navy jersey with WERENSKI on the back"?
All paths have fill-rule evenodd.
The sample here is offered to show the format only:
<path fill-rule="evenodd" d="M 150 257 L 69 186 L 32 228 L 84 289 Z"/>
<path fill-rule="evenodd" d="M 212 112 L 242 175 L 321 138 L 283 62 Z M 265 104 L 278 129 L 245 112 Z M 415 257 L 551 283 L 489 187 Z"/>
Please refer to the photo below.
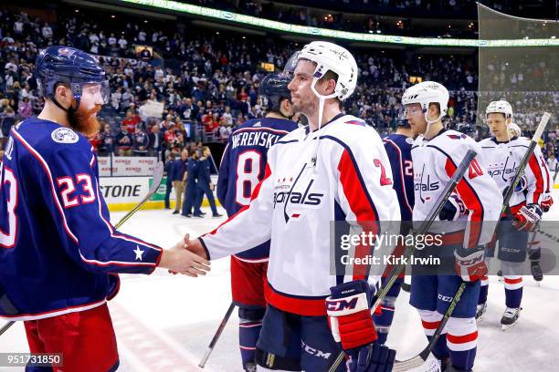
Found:
<path fill-rule="evenodd" d="M 250 119 L 231 134 L 217 179 L 217 199 L 229 217 L 250 203 L 252 191 L 264 177 L 269 148 L 297 128 L 287 119 Z M 267 261 L 268 256 L 269 242 L 236 254 L 248 262 Z"/>

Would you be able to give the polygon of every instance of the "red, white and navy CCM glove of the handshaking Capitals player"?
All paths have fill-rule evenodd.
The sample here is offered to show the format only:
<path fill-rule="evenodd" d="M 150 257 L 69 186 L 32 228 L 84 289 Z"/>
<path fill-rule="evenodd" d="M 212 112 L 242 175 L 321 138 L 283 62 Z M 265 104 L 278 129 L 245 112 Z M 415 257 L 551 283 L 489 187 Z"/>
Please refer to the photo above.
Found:
<path fill-rule="evenodd" d="M 373 343 L 376 338 L 370 306 L 372 293 L 364 280 L 343 283 L 330 288 L 326 298 L 326 312 L 334 340 L 350 356 L 357 357 L 359 350 L 351 350 Z M 350 352 L 351 350 L 351 352 Z"/>

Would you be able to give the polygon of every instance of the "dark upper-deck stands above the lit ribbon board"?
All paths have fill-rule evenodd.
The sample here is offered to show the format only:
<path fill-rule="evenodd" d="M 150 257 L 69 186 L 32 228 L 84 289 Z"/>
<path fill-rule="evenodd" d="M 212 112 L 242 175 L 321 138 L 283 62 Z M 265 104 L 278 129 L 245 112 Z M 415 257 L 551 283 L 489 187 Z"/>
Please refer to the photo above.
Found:
<path fill-rule="evenodd" d="M 457 16 L 477 19 L 475 0 L 297 0 L 260 1 L 260 0 L 182 0 L 183 3 L 208 6 L 244 15 L 263 17 L 289 24 L 343 29 L 346 31 L 389 34 L 398 36 L 417 36 L 417 25 L 407 22 L 409 14 L 430 18 L 449 19 Z M 285 6 L 288 5 L 296 6 Z M 526 16 L 526 10 L 543 10 L 543 4 L 528 5 L 522 1 L 481 0 L 501 13 Z M 349 16 L 365 15 L 360 17 Z M 543 13 L 540 13 L 543 14 Z M 378 15 L 400 16 L 401 22 L 392 22 Z M 455 26 L 446 28 L 425 27 L 423 36 L 476 38 L 475 26 Z"/>

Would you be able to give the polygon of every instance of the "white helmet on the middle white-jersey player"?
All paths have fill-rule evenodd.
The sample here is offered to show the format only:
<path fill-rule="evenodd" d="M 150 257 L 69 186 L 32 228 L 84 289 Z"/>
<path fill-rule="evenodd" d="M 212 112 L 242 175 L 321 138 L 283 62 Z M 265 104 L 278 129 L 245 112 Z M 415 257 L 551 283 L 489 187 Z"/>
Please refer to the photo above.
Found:
<path fill-rule="evenodd" d="M 406 89 L 402 96 L 402 105 L 406 106 L 413 103 L 420 104 L 427 122 L 433 123 L 447 115 L 448 98 L 448 89 L 442 84 L 436 81 L 423 81 Z M 427 119 L 427 110 L 431 103 L 438 103 L 440 107 L 440 116 L 437 120 Z"/>

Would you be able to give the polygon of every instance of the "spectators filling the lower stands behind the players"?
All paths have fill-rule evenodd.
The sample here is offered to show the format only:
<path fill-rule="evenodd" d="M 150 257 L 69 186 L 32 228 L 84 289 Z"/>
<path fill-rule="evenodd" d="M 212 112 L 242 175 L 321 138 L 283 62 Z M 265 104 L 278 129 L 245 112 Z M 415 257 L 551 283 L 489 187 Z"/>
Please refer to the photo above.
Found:
<path fill-rule="evenodd" d="M 100 134 L 91 139 L 100 155 L 163 159 L 164 153 L 178 153 L 194 140 L 227 141 L 238 125 L 265 115 L 258 85 L 267 72 L 260 63 L 282 69 L 301 48 L 280 39 L 226 36 L 216 30 L 174 25 L 165 28 L 119 17 L 119 22 L 109 19 L 103 24 L 101 17 L 77 12 L 59 15 L 57 24 L 48 24 L 23 12 L 0 14 L 0 126 L 4 135 L 18 120 L 37 115 L 44 106 L 33 71 L 39 49 L 48 45 L 79 47 L 100 56 L 111 85 L 110 102 L 100 112 Z M 158 57 L 138 59 L 136 45 L 153 47 Z M 414 78 L 445 85 L 450 90 L 448 126 L 477 123 L 478 137 L 486 135 L 478 98 L 480 102 L 509 99 L 515 121 L 525 130 L 533 129 L 544 109 L 553 111 L 559 99 L 553 87 L 556 83 L 549 81 L 554 69 L 541 62 L 513 68 L 508 62 L 490 60 L 484 68 L 495 74 L 488 83 L 478 81 L 475 61 L 468 56 L 367 49 L 359 50 L 356 57 L 359 84 L 344 109 L 381 134 L 396 129 L 403 113 L 401 95 Z M 514 92 L 523 81 L 551 91 Z M 491 93 L 492 97 L 481 92 L 478 97 L 479 84 L 502 91 Z M 153 115 L 153 109 L 148 109 L 153 107 L 162 111 Z M 545 139 L 555 137 L 546 134 Z"/>

